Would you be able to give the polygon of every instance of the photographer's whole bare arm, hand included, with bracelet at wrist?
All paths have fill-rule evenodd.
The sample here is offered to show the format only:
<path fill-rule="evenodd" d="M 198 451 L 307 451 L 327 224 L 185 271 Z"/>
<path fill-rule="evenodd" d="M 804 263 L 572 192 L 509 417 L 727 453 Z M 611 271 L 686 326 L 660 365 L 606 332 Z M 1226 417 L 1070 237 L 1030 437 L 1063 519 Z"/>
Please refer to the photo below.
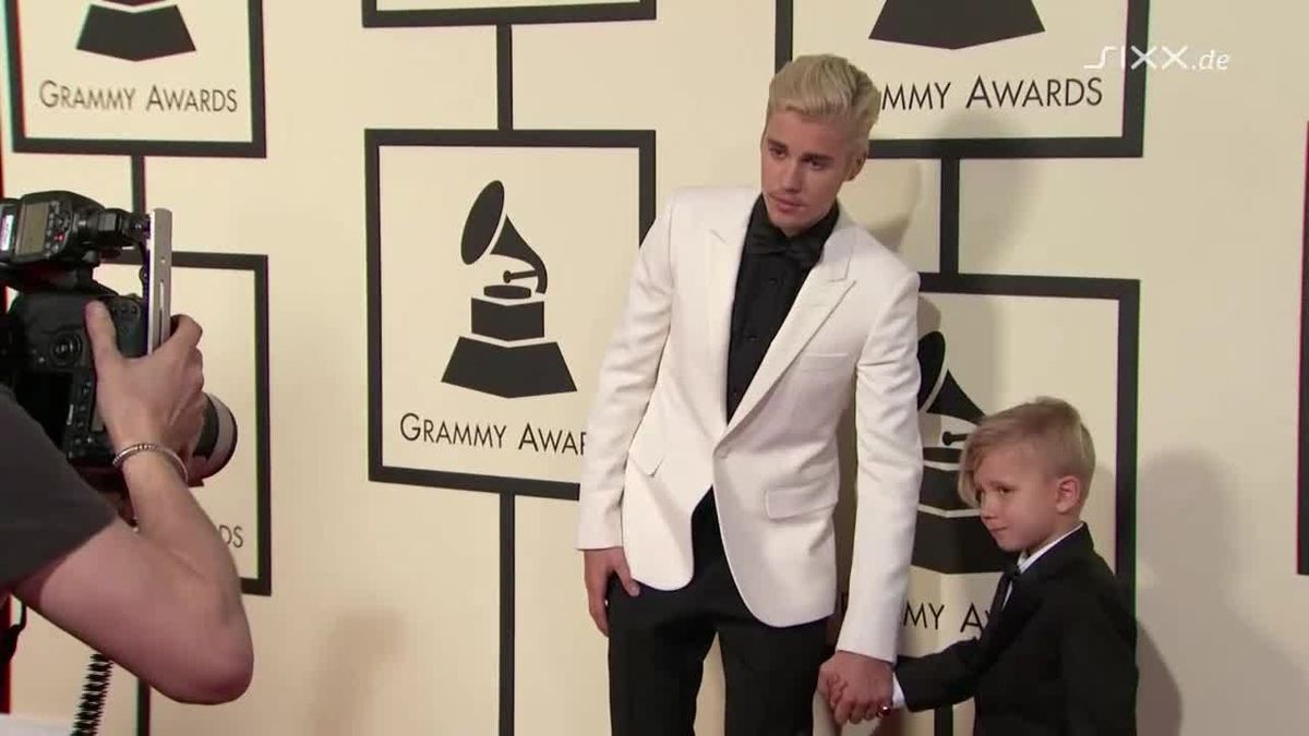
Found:
<path fill-rule="evenodd" d="M 99 305 L 88 312 L 97 401 L 115 448 L 186 448 L 203 410 L 199 326 L 179 318 L 153 355 L 118 354 Z M 253 672 L 250 630 L 232 555 L 171 461 L 123 464 L 139 532 L 115 520 L 16 587 L 55 625 L 185 702 L 225 702 Z"/>

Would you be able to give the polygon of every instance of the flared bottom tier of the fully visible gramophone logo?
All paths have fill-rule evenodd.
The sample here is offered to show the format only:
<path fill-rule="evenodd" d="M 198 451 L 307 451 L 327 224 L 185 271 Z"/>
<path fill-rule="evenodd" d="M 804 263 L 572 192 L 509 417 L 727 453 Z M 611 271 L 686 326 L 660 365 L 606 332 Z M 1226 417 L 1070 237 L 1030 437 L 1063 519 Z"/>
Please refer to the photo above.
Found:
<path fill-rule="evenodd" d="M 556 343 L 491 344 L 459 338 L 441 382 L 503 398 L 577 390 Z"/>

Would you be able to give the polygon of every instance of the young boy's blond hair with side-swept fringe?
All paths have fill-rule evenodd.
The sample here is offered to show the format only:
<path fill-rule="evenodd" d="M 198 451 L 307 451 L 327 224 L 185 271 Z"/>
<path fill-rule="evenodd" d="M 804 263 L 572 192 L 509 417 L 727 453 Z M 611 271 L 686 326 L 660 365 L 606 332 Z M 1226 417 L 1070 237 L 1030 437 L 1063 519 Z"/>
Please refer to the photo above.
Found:
<path fill-rule="evenodd" d="M 959 458 L 959 498 L 965 503 L 978 504 L 973 475 L 987 454 L 1017 444 L 1028 445 L 1055 478 L 1072 475 L 1080 481 L 1080 500 L 1086 499 L 1096 471 L 1096 445 L 1090 441 L 1090 432 L 1071 403 L 1039 397 L 986 416 L 969 435 Z"/>

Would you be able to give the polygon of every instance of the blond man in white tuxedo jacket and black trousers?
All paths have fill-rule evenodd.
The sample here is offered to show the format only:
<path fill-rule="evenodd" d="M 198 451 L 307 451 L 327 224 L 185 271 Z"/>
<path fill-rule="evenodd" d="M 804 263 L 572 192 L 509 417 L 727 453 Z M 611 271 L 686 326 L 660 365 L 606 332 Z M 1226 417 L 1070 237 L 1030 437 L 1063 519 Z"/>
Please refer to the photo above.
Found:
<path fill-rule="evenodd" d="M 726 733 L 809 733 L 891 699 L 922 445 L 918 275 L 838 203 L 881 94 L 836 56 L 770 85 L 758 187 L 678 191 L 649 229 L 586 428 L 577 547 L 609 636 L 615 735 L 690 735 L 719 638 Z M 836 602 L 836 427 L 859 511 Z"/>

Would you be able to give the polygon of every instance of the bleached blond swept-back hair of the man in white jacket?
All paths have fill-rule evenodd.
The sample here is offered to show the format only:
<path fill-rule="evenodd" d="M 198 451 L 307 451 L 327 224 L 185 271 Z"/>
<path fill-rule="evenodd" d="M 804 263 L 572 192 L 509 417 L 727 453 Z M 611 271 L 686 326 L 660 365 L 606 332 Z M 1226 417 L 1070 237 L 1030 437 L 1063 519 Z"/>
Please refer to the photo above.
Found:
<path fill-rule="evenodd" d="M 882 109 L 882 92 L 859 67 L 840 56 L 796 56 L 768 85 L 764 122 L 779 110 L 806 118 L 843 118 L 853 130 L 853 143 L 865 145 Z"/>

